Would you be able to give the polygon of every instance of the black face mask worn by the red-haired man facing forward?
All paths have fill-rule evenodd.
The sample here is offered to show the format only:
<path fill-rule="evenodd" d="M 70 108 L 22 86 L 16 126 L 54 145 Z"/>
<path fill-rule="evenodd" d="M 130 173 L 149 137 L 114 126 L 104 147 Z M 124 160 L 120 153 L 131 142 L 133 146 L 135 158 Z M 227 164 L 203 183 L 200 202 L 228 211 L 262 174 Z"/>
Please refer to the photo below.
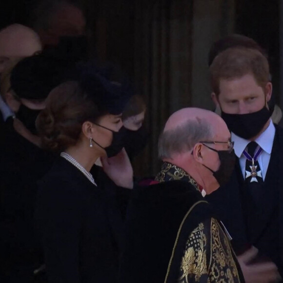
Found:
<path fill-rule="evenodd" d="M 248 114 L 227 114 L 222 111 L 221 117 L 231 132 L 245 140 L 249 140 L 263 129 L 271 114 L 267 107 L 264 106 L 260 111 Z"/>

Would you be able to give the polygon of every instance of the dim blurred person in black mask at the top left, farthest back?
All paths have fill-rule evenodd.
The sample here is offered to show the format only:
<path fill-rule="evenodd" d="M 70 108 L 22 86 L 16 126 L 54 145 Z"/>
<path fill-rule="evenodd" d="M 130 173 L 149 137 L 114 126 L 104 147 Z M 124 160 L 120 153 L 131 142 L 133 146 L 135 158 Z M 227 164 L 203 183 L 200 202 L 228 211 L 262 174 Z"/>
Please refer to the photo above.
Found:
<path fill-rule="evenodd" d="M 76 62 L 89 59 L 91 34 L 86 32 L 78 1 L 40 0 L 32 11 L 30 26 L 38 33 L 46 54 Z"/>

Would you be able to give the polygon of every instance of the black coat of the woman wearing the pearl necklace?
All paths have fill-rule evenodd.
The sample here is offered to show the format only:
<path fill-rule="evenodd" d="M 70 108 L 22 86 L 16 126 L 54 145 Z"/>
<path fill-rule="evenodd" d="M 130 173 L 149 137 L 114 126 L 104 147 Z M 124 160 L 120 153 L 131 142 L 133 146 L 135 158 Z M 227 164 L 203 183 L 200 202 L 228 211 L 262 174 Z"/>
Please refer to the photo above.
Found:
<path fill-rule="evenodd" d="M 117 191 L 94 178 L 98 186 L 60 158 L 40 182 L 36 219 L 50 283 L 117 280 L 122 233 Z"/>

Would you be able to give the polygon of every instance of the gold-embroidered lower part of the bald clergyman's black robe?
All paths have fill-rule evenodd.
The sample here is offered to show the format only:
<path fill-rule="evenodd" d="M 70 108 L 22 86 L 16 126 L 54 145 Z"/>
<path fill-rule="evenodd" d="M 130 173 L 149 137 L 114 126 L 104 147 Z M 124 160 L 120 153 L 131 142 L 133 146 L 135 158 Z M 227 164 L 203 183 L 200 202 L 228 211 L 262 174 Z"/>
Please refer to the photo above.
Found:
<path fill-rule="evenodd" d="M 190 234 L 178 283 L 240 283 L 232 249 L 216 219 L 200 223 Z"/>

